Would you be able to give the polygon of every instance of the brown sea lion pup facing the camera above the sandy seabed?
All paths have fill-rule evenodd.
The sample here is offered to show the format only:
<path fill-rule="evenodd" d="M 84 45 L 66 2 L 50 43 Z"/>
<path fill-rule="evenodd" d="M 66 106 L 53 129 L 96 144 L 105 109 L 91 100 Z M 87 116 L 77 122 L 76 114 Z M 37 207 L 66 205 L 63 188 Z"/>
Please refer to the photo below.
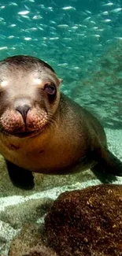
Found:
<path fill-rule="evenodd" d="M 99 165 L 122 174 L 104 129 L 86 109 L 60 92 L 54 69 L 38 58 L 0 62 L 0 153 L 19 187 L 34 186 L 30 171 L 62 174 Z"/>

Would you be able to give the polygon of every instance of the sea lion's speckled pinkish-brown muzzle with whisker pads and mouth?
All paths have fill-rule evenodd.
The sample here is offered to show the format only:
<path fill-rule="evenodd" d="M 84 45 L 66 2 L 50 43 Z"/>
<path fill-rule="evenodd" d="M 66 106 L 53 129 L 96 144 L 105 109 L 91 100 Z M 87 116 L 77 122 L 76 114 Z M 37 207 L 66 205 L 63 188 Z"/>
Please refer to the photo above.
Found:
<path fill-rule="evenodd" d="M 7 109 L 0 117 L 0 130 L 5 135 L 18 138 L 32 137 L 43 132 L 48 123 L 47 113 L 43 109 L 28 110 L 26 120 L 14 109 Z"/>

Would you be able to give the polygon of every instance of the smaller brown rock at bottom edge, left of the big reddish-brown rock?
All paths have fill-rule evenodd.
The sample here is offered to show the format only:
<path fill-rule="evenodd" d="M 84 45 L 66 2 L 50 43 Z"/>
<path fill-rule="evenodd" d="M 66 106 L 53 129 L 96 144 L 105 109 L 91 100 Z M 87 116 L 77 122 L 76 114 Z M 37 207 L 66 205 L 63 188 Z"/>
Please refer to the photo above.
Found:
<path fill-rule="evenodd" d="M 43 245 L 38 226 L 28 223 L 13 239 L 9 256 L 57 256 L 57 254 Z"/>

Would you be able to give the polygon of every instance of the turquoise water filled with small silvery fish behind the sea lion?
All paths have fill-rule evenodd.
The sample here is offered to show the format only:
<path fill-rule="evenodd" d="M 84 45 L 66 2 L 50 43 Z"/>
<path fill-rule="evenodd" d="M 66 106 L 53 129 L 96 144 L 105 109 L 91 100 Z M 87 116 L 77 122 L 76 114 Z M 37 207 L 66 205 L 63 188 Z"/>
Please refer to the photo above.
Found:
<path fill-rule="evenodd" d="M 65 94 L 105 128 L 122 128 L 121 0 L 1 0 L 0 36 L 1 59 L 30 54 L 47 61 Z"/>

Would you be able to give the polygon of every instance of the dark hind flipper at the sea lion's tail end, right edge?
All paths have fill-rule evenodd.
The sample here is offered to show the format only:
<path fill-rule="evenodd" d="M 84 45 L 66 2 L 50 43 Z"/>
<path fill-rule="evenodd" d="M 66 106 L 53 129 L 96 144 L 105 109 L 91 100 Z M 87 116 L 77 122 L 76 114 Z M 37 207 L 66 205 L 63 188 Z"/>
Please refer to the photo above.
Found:
<path fill-rule="evenodd" d="M 122 162 L 108 149 L 96 149 L 94 151 L 93 158 L 95 161 L 97 161 L 97 165 L 101 167 L 103 173 L 113 174 L 114 176 L 122 176 Z"/>

